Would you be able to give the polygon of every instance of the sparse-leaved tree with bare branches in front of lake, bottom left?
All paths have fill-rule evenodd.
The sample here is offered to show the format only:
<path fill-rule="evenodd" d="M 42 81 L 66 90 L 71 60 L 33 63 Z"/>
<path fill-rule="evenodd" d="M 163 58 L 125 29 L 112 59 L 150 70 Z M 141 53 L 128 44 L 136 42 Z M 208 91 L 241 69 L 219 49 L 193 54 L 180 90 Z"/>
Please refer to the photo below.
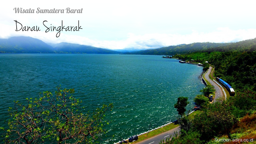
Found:
<path fill-rule="evenodd" d="M 46 91 L 39 98 L 26 98 L 26 105 L 14 102 L 14 108 L 9 109 L 12 119 L 5 130 L 5 143 L 95 143 L 104 132 L 104 113 L 112 110 L 112 104 L 84 113 L 82 101 L 73 93 L 74 89 L 58 88 L 55 95 Z"/>

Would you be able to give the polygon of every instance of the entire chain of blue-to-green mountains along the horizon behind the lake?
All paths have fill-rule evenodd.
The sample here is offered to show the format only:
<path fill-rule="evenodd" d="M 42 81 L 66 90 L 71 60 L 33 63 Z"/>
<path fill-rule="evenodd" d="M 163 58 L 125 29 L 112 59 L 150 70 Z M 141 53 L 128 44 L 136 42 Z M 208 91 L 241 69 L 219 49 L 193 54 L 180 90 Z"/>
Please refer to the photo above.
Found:
<path fill-rule="evenodd" d="M 226 50 L 255 50 L 256 38 L 235 43 L 196 42 L 192 44 L 180 44 L 150 50 L 128 51 L 110 50 L 61 42 L 58 44 L 46 44 L 42 40 L 32 37 L 16 36 L 8 39 L 0 39 L 0 53 L 73 53 L 73 54 L 144 54 L 144 55 L 174 55 L 192 52 L 211 52 Z"/>

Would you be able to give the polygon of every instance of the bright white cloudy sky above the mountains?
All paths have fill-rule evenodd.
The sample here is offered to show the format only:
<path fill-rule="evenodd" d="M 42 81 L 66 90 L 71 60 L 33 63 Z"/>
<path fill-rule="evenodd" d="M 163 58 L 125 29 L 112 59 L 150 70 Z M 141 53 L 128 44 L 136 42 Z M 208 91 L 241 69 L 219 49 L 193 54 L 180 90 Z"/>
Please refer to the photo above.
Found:
<path fill-rule="evenodd" d="M 0 6 L 0 38 L 30 36 L 112 50 L 146 50 L 193 42 L 238 42 L 256 38 L 253 0 L 8 0 Z M 14 8 L 34 9 L 15 13 Z M 37 9 L 64 13 L 36 13 Z M 66 8 L 82 13 L 66 13 Z M 40 31 L 16 31 L 16 20 Z M 47 22 L 44 22 L 44 21 Z M 79 26 L 79 31 L 47 27 Z M 44 24 L 43 24 L 44 22 Z M 62 25 L 63 24 L 63 25 Z"/>

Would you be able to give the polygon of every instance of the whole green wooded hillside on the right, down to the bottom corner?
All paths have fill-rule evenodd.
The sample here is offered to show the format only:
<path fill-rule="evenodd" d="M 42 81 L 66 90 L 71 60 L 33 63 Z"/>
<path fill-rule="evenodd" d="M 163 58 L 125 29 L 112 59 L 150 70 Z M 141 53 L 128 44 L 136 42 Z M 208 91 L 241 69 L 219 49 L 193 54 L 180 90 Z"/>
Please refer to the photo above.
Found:
<path fill-rule="evenodd" d="M 228 82 L 235 96 L 213 104 L 202 104 L 194 119 L 182 116 L 180 135 L 161 144 L 255 144 L 256 139 L 256 39 L 231 43 L 197 52 L 187 51 L 174 58 L 208 61 L 215 67 L 215 76 Z M 225 140 L 231 140 L 225 142 Z M 239 139 L 239 142 L 233 140 Z M 248 140 L 241 142 L 240 140 Z M 250 142 L 249 140 L 254 140 Z"/>

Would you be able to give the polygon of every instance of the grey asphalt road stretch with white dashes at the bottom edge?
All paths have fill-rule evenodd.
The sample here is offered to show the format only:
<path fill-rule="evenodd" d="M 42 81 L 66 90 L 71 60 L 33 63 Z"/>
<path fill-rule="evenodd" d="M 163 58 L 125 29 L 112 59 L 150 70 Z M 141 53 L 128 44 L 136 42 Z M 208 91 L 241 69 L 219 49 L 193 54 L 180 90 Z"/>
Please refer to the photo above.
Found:
<path fill-rule="evenodd" d="M 162 134 L 158 134 L 157 136 L 154 136 L 152 138 L 146 139 L 142 142 L 138 142 L 136 144 L 159 144 L 161 140 L 166 140 L 166 138 L 170 138 L 170 136 L 174 136 L 174 132 L 177 132 L 180 130 L 180 126 L 173 128 L 171 130 L 168 130 L 167 132 L 164 132 Z"/>

